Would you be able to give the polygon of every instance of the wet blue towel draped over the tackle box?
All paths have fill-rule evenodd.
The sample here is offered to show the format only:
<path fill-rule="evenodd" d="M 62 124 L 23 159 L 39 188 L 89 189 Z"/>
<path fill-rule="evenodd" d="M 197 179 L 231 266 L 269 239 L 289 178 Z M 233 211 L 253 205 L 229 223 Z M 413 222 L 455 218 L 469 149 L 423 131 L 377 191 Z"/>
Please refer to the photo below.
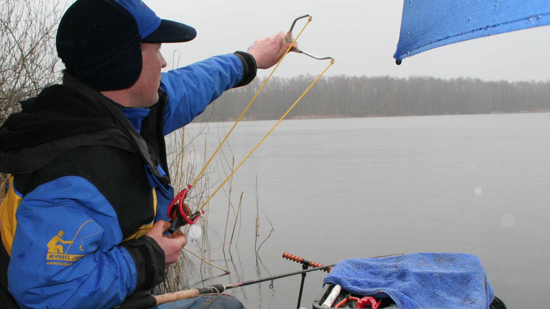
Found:
<path fill-rule="evenodd" d="M 391 297 L 399 309 L 488 309 L 493 288 L 465 253 L 411 253 L 340 261 L 324 278 L 357 295 Z"/>

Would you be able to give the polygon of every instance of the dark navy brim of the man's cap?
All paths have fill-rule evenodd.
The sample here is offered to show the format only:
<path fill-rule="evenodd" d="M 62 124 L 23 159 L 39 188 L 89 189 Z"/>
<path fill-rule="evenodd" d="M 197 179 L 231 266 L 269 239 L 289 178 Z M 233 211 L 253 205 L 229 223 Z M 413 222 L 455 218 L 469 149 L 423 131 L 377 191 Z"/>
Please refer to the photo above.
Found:
<path fill-rule="evenodd" d="M 179 43 L 189 42 L 197 36 L 194 27 L 162 19 L 161 24 L 150 35 L 141 39 L 144 43 Z"/>

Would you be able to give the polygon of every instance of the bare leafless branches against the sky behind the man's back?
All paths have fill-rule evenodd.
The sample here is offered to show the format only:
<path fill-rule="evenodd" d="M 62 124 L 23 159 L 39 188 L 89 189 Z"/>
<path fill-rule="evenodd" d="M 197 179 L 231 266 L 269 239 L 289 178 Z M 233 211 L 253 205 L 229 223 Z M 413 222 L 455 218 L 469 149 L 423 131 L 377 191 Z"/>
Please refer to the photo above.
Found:
<path fill-rule="evenodd" d="M 0 124 L 19 101 L 58 81 L 61 13 L 54 0 L 0 0 Z"/>

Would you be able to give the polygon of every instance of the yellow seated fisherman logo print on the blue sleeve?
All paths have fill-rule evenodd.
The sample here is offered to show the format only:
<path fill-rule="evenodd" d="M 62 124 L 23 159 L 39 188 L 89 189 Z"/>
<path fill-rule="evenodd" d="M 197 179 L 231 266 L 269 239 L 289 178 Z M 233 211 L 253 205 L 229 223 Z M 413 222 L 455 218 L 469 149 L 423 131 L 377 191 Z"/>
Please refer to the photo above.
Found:
<path fill-rule="evenodd" d="M 94 220 L 87 220 L 70 238 L 65 231 L 58 231 L 46 244 L 48 252 L 46 260 L 48 265 L 70 266 L 80 260 L 86 254 L 84 248 L 92 241 L 92 236 L 100 233 L 101 228 Z M 76 243 L 75 243 L 76 242 Z"/>

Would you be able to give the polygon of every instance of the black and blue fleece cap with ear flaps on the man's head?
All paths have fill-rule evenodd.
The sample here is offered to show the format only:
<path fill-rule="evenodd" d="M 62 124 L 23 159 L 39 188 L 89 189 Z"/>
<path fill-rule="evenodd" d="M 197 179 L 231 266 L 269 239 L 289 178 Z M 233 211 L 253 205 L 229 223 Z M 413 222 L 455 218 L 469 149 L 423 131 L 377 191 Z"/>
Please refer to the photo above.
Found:
<path fill-rule="evenodd" d="M 96 90 L 126 89 L 141 74 L 140 43 L 188 42 L 193 27 L 160 19 L 138 0 L 77 0 L 57 30 L 59 58 Z"/>

